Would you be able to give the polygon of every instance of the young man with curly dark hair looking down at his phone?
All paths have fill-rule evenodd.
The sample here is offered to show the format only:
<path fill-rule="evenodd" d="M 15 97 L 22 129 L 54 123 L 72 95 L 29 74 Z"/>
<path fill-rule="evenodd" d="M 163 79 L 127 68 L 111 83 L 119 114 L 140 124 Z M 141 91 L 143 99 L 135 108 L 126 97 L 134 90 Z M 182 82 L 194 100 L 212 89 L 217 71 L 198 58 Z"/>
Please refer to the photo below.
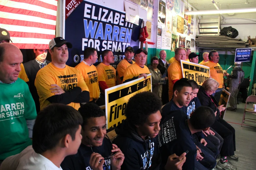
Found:
<path fill-rule="evenodd" d="M 113 141 L 125 155 L 122 170 L 159 169 L 161 156 L 157 135 L 162 119 L 161 106 L 161 99 L 152 92 L 141 92 L 129 99 L 126 120 L 116 127 L 118 136 Z M 185 153 L 180 157 L 168 155 L 164 169 L 180 170 L 185 160 Z"/>

